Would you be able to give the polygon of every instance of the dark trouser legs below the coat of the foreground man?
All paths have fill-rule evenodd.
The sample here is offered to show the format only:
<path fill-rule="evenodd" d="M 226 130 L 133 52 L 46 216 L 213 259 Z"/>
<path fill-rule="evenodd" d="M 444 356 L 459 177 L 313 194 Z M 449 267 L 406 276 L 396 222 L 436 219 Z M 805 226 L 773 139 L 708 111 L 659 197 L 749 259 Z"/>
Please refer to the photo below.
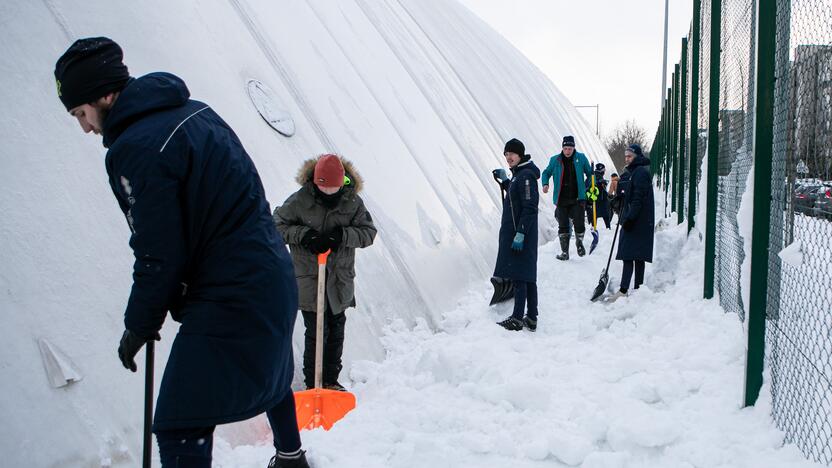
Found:
<path fill-rule="evenodd" d="M 266 412 L 274 434 L 274 448 L 292 453 L 300 450 L 300 434 L 295 415 L 295 394 L 287 393 L 280 403 Z M 156 432 L 162 468 L 211 468 L 216 426 L 172 429 Z"/>

